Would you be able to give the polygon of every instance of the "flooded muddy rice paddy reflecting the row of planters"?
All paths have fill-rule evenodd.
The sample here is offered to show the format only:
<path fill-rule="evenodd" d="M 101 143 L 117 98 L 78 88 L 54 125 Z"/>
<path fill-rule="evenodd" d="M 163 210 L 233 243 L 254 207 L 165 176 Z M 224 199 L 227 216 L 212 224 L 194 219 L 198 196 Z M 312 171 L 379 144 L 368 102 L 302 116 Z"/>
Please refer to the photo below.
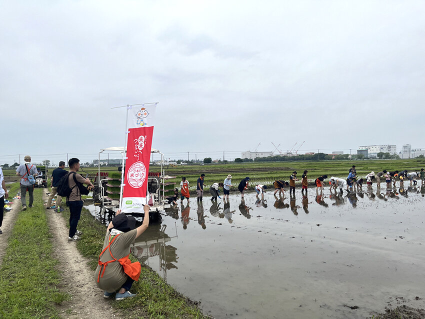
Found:
<path fill-rule="evenodd" d="M 424 306 L 425 188 L 169 208 L 132 247 L 215 318 L 365 318 Z"/>

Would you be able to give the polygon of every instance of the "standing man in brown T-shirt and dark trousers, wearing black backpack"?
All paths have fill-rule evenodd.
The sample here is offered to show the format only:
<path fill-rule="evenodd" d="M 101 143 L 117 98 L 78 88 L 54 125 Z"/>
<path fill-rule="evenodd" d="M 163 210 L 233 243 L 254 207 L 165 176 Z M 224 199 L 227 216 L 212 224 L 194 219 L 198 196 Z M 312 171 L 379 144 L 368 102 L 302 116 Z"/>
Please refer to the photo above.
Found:
<path fill-rule="evenodd" d="M 76 172 L 79 170 L 79 159 L 72 157 L 68 160 L 69 172 L 67 175 L 68 185 L 71 189 L 69 196 L 66 198 L 66 205 L 69 206 L 69 236 L 68 241 L 78 240 L 78 235 L 81 231 L 76 229 L 79 218 L 81 216 L 81 209 L 83 201 L 81 200 L 81 194 L 88 194 L 88 191 L 94 187 L 88 178 L 82 177 Z M 84 187 L 83 184 L 88 185 Z"/>

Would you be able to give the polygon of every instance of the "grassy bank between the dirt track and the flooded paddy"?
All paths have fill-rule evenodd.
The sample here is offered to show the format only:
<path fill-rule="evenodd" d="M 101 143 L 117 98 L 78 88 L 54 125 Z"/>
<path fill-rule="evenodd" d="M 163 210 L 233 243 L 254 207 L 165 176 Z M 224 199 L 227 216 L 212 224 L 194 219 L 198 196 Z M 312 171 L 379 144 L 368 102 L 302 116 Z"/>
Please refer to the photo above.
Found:
<path fill-rule="evenodd" d="M 65 220 L 69 219 L 69 209 L 66 208 L 63 211 L 63 217 Z M 83 235 L 76 242 L 77 249 L 88 258 L 89 266 L 94 270 L 97 266 L 98 255 L 102 250 L 106 226 L 94 219 L 89 211 L 83 208 L 78 229 L 82 231 Z M 130 258 L 132 261 L 137 260 L 132 255 Z M 112 306 L 121 309 L 125 315 L 155 319 L 204 318 L 196 305 L 178 293 L 143 263 L 140 278 L 134 282 L 131 292 L 137 293 L 137 297 L 111 301 Z"/>

